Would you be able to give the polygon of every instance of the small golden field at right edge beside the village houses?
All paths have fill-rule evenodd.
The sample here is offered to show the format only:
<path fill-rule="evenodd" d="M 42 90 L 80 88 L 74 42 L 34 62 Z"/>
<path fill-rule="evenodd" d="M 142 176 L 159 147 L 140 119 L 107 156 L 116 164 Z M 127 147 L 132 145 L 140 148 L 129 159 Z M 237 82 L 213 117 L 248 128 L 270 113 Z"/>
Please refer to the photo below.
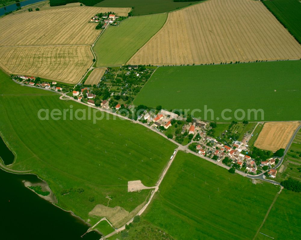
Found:
<path fill-rule="evenodd" d="M 265 123 L 254 144 L 264 150 L 277 151 L 286 148 L 300 122 L 271 122 Z"/>

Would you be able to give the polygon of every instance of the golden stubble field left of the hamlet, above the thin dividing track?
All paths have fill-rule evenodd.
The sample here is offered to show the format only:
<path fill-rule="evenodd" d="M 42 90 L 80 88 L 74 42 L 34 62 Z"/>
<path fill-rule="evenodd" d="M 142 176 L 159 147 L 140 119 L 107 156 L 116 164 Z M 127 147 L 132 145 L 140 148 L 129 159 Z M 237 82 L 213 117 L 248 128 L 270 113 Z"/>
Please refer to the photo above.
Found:
<path fill-rule="evenodd" d="M 93 44 L 101 30 L 89 20 L 109 10 L 127 16 L 130 8 L 70 7 L 9 14 L 0 19 L 0 46 Z"/>

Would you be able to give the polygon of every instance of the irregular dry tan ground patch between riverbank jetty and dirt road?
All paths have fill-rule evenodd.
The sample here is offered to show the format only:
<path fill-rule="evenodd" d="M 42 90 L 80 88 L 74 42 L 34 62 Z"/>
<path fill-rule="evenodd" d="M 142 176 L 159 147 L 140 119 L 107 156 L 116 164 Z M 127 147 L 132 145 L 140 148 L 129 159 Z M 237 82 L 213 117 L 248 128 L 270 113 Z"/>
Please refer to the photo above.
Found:
<path fill-rule="evenodd" d="M 134 217 L 138 211 L 144 206 L 145 202 L 141 203 L 133 211 L 128 212 L 124 208 L 116 206 L 115 208 L 106 207 L 104 205 L 96 205 L 89 215 L 95 215 L 99 217 L 106 217 L 114 227 L 122 226 L 132 217 Z"/>

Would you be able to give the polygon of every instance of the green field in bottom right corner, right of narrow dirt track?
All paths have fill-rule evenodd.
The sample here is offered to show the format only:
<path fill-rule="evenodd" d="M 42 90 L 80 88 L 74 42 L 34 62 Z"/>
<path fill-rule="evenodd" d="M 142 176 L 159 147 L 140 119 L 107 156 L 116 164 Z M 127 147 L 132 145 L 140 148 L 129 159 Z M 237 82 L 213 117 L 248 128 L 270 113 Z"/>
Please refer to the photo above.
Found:
<path fill-rule="evenodd" d="M 268 214 L 260 232 L 274 239 L 299 240 L 301 236 L 300 193 L 283 189 Z M 256 240 L 270 240 L 258 234 Z"/>

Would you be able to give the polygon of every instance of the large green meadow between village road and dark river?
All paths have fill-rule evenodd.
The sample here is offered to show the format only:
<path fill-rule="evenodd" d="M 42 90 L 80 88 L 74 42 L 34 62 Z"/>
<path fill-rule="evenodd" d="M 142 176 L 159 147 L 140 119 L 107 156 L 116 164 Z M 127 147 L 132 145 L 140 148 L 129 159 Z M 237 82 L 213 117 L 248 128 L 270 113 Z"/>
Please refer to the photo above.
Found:
<path fill-rule="evenodd" d="M 37 174 L 49 184 L 58 206 L 85 221 L 91 219 L 91 224 L 101 219 L 88 216 L 98 204 L 131 212 L 143 203 L 150 191 L 128 193 L 127 182 L 141 180 L 154 186 L 175 149 L 151 130 L 113 120 L 111 115 L 96 124 L 74 116 L 70 120 L 69 114 L 66 120 L 39 120 L 40 109 L 73 109 L 75 113 L 88 111 L 88 107 L 60 100 L 52 92 L 17 85 L 3 72 L 0 90 L 0 132 L 16 156 L 7 167 Z M 106 196 L 111 198 L 109 204 Z"/>

